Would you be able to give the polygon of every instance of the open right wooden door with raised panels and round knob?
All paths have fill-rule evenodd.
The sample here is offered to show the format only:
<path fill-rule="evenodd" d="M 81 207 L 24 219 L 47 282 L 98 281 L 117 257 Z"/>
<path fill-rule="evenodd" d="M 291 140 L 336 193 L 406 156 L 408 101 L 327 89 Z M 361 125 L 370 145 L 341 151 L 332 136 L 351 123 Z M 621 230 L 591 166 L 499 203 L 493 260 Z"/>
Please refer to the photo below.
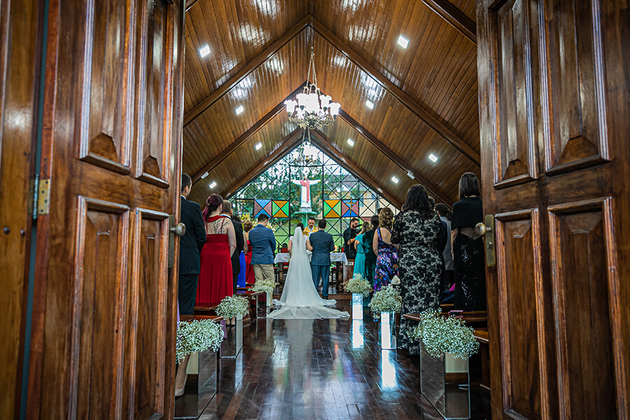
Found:
<path fill-rule="evenodd" d="M 630 418 L 629 10 L 477 2 L 496 420 Z"/>

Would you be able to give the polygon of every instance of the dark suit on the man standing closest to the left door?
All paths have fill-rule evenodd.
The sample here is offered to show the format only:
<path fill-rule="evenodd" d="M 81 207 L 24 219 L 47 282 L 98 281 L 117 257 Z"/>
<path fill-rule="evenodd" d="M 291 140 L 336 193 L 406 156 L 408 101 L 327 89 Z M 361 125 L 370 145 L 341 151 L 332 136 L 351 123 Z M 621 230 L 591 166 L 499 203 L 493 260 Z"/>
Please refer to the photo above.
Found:
<path fill-rule="evenodd" d="M 201 272 L 199 255 L 206 244 L 206 228 L 199 204 L 181 197 L 180 209 L 186 234 L 179 238 L 179 313 L 193 315 Z"/>

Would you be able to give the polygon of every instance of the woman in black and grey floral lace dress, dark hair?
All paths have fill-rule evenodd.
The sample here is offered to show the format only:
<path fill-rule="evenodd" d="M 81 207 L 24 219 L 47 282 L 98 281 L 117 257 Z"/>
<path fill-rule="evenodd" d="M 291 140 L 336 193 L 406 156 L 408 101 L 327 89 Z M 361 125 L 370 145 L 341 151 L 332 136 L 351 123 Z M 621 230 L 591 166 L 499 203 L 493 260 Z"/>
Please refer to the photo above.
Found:
<path fill-rule="evenodd" d="M 407 202 L 396 216 L 391 233 L 392 244 L 400 244 L 398 269 L 403 314 L 419 314 L 440 307 L 442 260 L 437 239 L 441 225 L 424 187 L 409 188 Z M 400 347 L 409 354 L 420 354 L 420 343 L 409 339 L 409 332 L 416 325 L 414 321 L 400 319 Z"/>

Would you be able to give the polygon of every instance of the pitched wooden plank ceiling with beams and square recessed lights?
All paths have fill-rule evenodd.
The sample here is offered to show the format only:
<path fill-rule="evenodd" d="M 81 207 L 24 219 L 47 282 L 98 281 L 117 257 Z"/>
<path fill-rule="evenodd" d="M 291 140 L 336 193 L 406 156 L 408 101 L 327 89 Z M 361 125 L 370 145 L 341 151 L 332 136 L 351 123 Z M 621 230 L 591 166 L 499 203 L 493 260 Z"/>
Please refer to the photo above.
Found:
<path fill-rule="evenodd" d="M 318 86 L 342 105 L 314 142 L 394 204 L 414 183 L 452 204 L 461 174 L 479 176 L 475 42 L 474 0 L 188 0 L 190 198 L 235 193 L 299 143 L 283 102 L 306 82 L 313 48 Z"/>

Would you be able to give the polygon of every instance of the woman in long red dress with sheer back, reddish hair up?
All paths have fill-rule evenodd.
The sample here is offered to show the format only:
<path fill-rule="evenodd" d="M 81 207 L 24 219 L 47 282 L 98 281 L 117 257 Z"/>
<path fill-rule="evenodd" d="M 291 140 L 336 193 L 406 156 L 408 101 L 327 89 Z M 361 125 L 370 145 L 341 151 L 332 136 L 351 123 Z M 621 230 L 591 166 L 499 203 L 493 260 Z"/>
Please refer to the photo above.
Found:
<path fill-rule="evenodd" d="M 236 249 L 234 225 L 221 216 L 223 198 L 213 194 L 203 211 L 206 222 L 206 244 L 202 249 L 201 273 L 197 285 L 197 306 L 212 307 L 233 293 L 232 259 Z"/>

